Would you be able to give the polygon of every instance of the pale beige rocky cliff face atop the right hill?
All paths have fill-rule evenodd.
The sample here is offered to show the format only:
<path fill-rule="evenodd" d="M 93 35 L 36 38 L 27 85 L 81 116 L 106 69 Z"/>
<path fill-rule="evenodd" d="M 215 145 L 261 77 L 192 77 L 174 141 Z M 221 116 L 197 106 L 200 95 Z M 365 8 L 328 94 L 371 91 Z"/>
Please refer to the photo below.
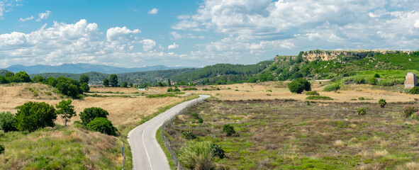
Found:
<path fill-rule="evenodd" d="M 337 57 L 346 57 L 346 56 L 359 56 L 359 57 L 367 57 L 372 54 L 380 53 L 380 54 L 389 54 L 389 53 L 397 53 L 397 52 L 406 52 L 408 55 L 412 51 L 389 51 L 389 50 L 347 50 L 347 51 L 338 51 L 338 50 L 311 50 L 307 52 L 303 52 L 303 60 L 314 61 L 314 60 L 323 60 L 323 61 L 330 61 L 336 59 Z"/>

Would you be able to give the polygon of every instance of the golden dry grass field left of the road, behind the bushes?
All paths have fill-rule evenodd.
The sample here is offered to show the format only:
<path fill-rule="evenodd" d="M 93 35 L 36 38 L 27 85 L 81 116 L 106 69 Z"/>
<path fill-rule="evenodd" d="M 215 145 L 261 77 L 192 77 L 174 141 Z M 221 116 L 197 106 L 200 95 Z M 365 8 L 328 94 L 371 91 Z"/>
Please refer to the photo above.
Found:
<path fill-rule="evenodd" d="M 28 88 L 37 89 L 37 91 L 49 91 L 51 96 L 45 92 L 39 93 L 34 97 Z M 132 88 L 97 88 L 94 91 L 118 91 L 124 93 L 133 93 L 138 90 Z M 0 112 L 11 111 L 16 113 L 16 106 L 21 106 L 28 101 L 45 102 L 51 105 L 59 103 L 63 98 L 52 92 L 53 88 L 44 84 L 15 84 L 14 86 L 0 86 Z M 147 91 L 149 94 L 157 94 L 157 92 Z M 19 95 L 21 94 L 21 95 Z M 77 113 L 84 108 L 99 107 L 108 111 L 109 120 L 113 125 L 125 125 L 128 123 L 139 122 L 143 116 L 151 115 L 158 111 L 159 108 L 178 103 L 182 98 L 145 98 L 145 96 L 132 96 L 131 98 L 122 97 L 85 97 L 81 100 L 74 99 L 72 105 Z M 74 120 L 79 120 L 79 116 L 72 118 L 70 124 Z M 56 123 L 63 124 L 60 118 Z"/>

